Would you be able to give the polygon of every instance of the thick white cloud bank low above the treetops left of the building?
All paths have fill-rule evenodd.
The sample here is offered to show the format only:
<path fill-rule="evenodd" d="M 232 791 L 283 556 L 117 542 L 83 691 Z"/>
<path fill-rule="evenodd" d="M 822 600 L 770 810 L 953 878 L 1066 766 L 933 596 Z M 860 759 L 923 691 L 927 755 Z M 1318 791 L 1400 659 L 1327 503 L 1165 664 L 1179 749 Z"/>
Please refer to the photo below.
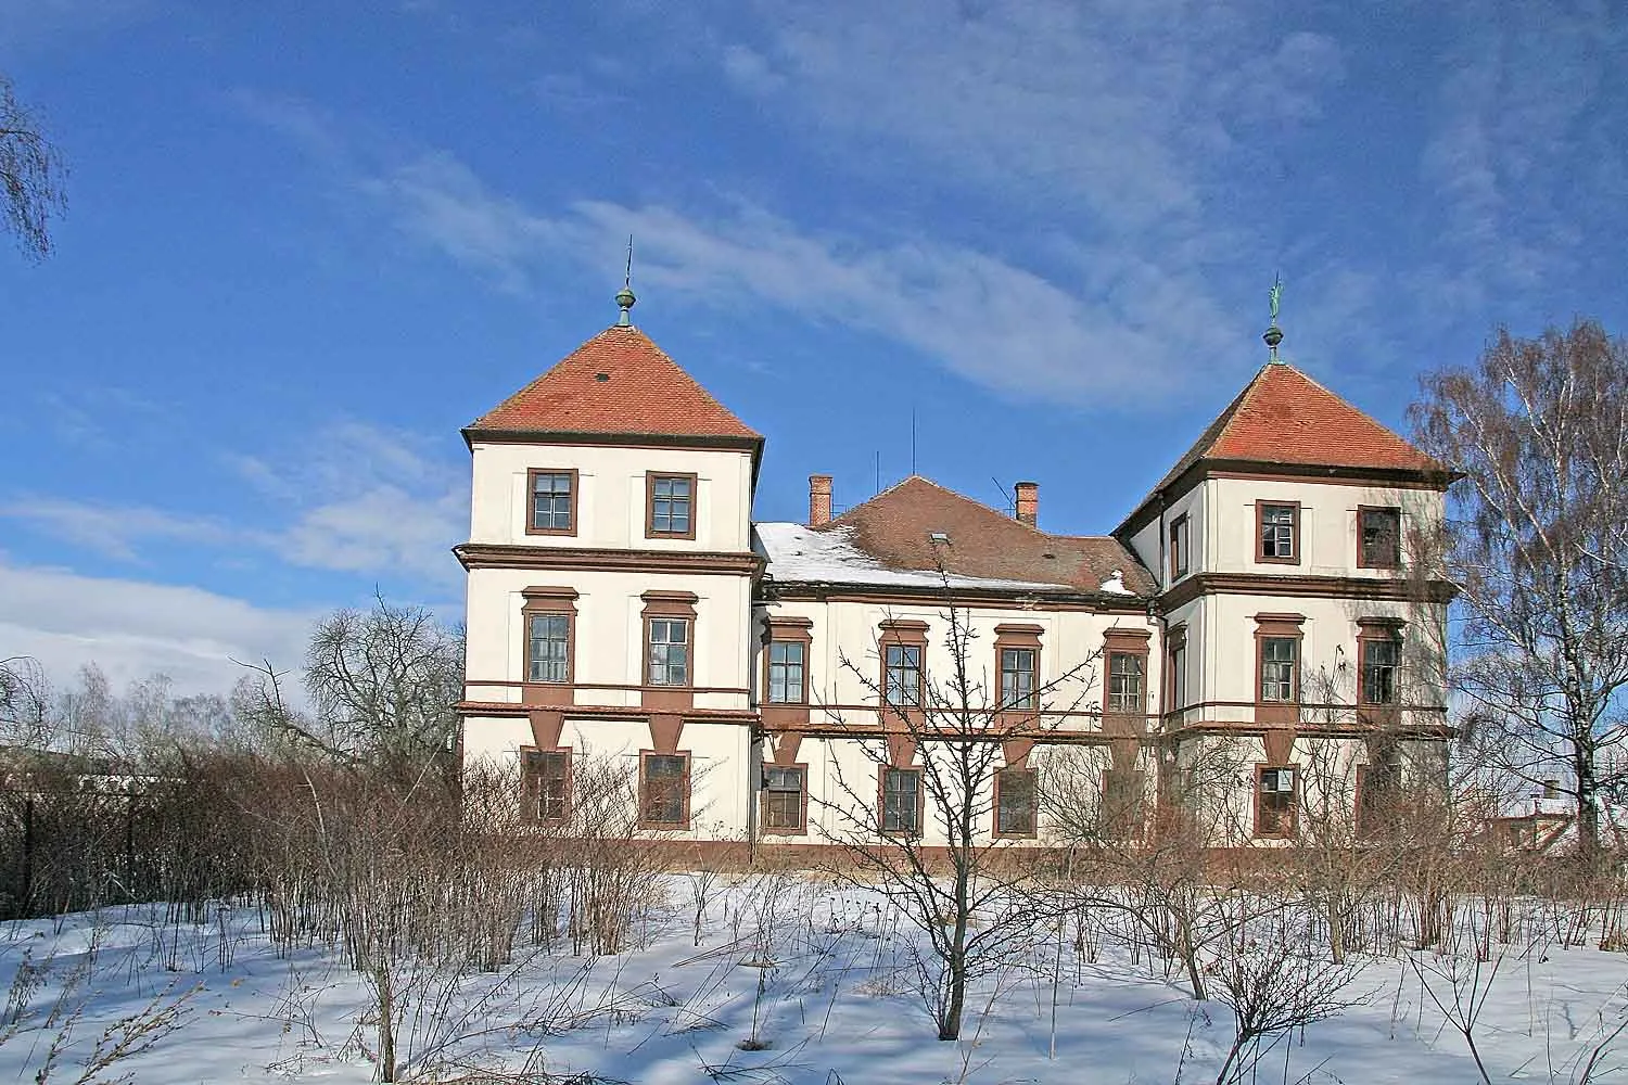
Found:
<path fill-rule="evenodd" d="M 166 673 L 182 691 L 225 691 L 243 673 L 233 659 L 298 667 L 317 617 L 0 555 L 0 657 L 31 656 L 57 680 L 96 662 L 116 685 Z"/>

